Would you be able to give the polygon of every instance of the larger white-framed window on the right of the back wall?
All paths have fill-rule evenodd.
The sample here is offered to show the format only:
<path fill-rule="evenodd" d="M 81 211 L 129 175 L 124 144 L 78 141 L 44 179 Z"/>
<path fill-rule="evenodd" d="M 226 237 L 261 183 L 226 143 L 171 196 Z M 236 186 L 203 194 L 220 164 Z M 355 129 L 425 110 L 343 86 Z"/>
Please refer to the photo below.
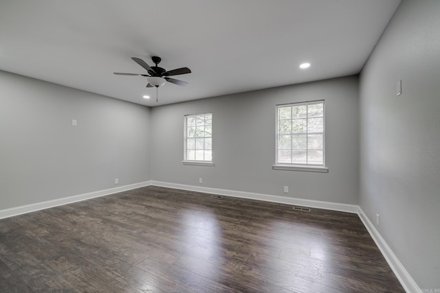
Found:
<path fill-rule="evenodd" d="M 276 106 L 274 169 L 295 169 L 291 167 L 318 167 L 327 170 L 324 101 Z"/>

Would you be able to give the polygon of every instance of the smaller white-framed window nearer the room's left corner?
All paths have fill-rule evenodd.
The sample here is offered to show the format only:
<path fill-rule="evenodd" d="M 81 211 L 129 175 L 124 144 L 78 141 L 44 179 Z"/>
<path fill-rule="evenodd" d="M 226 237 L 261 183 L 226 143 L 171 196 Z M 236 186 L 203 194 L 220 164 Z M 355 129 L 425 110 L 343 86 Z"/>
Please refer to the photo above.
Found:
<path fill-rule="evenodd" d="M 184 163 L 212 165 L 212 113 L 186 115 Z"/>

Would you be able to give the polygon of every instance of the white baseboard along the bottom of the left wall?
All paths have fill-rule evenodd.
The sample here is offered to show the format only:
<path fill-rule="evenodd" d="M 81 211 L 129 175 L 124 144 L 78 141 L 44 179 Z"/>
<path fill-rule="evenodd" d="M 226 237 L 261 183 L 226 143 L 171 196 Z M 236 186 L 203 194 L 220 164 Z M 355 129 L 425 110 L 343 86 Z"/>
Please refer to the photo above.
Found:
<path fill-rule="evenodd" d="M 49 209 L 51 207 L 58 207 L 63 204 L 70 204 L 73 202 L 80 202 L 82 200 L 89 200 L 91 198 L 98 198 L 100 196 L 108 196 L 109 194 L 116 194 L 121 191 L 135 189 L 151 185 L 151 181 L 144 181 L 130 185 L 124 185 L 99 191 L 89 192 L 87 194 L 79 194 L 77 196 L 68 196 L 66 198 L 57 198 L 56 200 L 47 200 L 45 202 L 36 202 L 34 204 L 26 204 L 21 207 L 12 207 L 10 209 L 3 209 L 0 211 L 0 219 L 13 217 L 14 215 L 21 215 L 23 213 L 30 213 L 32 211 L 39 211 L 41 209 Z"/>

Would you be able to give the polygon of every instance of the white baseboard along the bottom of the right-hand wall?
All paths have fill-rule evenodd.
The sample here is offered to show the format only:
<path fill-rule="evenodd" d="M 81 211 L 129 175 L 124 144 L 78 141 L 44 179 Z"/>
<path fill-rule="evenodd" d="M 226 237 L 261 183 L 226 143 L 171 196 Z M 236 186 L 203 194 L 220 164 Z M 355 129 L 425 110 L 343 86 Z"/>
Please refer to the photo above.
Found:
<path fill-rule="evenodd" d="M 393 250 L 391 250 L 390 246 L 386 244 L 385 239 L 382 238 L 379 231 L 377 231 L 374 224 L 370 221 L 370 219 L 366 216 L 366 214 L 364 213 L 364 211 L 362 211 L 360 207 L 358 215 L 362 223 L 364 223 L 366 230 L 369 231 L 380 252 L 382 253 L 382 255 L 384 255 L 386 262 L 388 262 L 388 265 L 391 267 L 391 270 L 393 270 L 397 279 L 399 279 L 399 282 L 401 283 L 405 291 L 408 293 L 422 292 L 417 283 L 415 283 L 408 271 L 401 264 L 399 259 L 397 259 L 396 255 L 393 253 Z"/>

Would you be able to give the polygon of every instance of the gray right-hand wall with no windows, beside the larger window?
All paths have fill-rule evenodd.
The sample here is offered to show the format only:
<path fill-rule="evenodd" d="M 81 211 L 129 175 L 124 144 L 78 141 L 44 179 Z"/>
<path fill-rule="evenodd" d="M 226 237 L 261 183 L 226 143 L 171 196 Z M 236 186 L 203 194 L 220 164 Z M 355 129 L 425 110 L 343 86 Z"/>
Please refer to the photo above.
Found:
<path fill-rule="evenodd" d="M 419 287 L 440 289 L 440 1 L 401 2 L 362 70 L 360 109 L 360 207 Z"/>

